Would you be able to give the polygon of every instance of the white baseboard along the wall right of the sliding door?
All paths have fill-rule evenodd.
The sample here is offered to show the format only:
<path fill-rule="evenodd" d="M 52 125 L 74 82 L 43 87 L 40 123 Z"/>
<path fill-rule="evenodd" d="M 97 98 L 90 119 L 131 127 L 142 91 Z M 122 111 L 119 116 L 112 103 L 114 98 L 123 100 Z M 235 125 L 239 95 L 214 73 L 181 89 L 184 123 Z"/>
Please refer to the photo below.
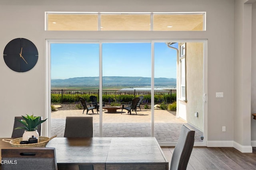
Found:
<path fill-rule="evenodd" d="M 256 145 L 256 141 L 254 141 Z M 242 153 L 252 153 L 252 146 L 243 146 L 235 141 L 207 141 L 207 147 L 234 147 Z"/>

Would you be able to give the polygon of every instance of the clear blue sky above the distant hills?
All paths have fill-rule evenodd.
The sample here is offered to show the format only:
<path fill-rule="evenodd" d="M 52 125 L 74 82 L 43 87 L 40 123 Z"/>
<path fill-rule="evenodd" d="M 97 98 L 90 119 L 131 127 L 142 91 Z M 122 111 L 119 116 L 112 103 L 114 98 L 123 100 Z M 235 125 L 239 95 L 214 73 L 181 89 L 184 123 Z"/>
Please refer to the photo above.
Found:
<path fill-rule="evenodd" d="M 176 78 L 176 51 L 154 43 L 154 55 L 155 78 Z M 102 75 L 151 77 L 151 43 L 103 43 Z M 52 79 L 94 76 L 99 76 L 99 44 L 51 44 Z"/>

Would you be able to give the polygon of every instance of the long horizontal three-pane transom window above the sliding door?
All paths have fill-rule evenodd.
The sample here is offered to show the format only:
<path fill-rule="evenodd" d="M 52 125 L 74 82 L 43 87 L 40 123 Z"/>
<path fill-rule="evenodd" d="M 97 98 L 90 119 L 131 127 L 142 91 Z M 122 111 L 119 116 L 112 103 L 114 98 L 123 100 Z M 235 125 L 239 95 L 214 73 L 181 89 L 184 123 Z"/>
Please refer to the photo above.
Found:
<path fill-rule="evenodd" d="M 205 31 L 205 12 L 46 12 L 48 31 Z"/>

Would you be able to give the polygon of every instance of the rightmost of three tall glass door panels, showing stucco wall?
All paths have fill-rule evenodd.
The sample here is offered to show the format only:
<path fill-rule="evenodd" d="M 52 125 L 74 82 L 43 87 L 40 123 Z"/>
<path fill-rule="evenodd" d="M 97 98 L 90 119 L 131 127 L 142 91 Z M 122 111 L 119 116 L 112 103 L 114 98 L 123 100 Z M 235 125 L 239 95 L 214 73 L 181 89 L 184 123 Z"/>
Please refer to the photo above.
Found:
<path fill-rule="evenodd" d="M 203 43 L 154 43 L 154 136 L 162 145 L 175 144 L 182 125 L 203 141 L 203 54 Z"/>

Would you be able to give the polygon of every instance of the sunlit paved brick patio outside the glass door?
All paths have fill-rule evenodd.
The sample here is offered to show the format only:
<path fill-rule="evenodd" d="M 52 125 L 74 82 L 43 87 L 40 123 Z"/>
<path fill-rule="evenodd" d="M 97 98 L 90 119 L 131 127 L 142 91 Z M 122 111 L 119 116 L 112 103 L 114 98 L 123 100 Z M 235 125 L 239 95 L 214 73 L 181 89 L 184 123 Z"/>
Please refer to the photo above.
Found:
<path fill-rule="evenodd" d="M 94 137 L 99 137 L 99 117 L 96 110 L 94 114 L 82 114 L 83 110 L 59 110 L 52 112 L 52 136 L 64 136 L 65 121 L 67 116 L 92 116 L 94 123 Z M 121 114 L 122 113 L 122 114 Z M 195 142 L 202 142 L 202 131 L 189 125 L 186 121 L 176 118 L 166 110 L 154 110 L 155 137 L 158 142 L 177 142 L 183 124 L 195 130 Z M 103 137 L 150 137 L 151 136 L 151 110 L 127 111 L 106 113 L 103 110 Z"/>

